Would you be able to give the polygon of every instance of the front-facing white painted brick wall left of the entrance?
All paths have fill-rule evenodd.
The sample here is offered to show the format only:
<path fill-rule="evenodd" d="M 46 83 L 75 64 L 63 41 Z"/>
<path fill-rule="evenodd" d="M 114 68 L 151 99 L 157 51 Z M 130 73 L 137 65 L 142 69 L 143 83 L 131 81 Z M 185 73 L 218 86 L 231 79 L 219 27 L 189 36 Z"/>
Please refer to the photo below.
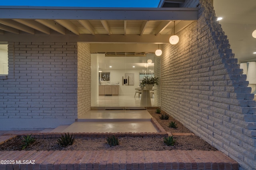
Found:
<path fill-rule="evenodd" d="M 38 129 L 73 122 L 78 104 L 77 53 L 77 43 L 9 42 L 9 74 L 0 80 L 0 120 L 14 129 L 25 127 L 23 119 L 30 119 L 31 127 L 40 121 Z M 15 126 L 12 119 L 20 123 Z M 49 119 L 56 124 L 49 124 Z M 1 124 L 6 129 L 10 125 Z"/>

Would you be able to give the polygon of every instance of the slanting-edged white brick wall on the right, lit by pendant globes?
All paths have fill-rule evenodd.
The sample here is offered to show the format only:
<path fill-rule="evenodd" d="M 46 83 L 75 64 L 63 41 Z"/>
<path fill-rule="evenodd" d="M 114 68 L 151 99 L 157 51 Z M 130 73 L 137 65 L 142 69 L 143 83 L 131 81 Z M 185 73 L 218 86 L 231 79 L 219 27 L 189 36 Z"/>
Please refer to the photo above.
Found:
<path fill-rule="evenodd" d="M 256 167 L 256 103 L 210 0 L 188 0 L 199 19 L 162 45 L 161 108 L 240 164 Z"/>

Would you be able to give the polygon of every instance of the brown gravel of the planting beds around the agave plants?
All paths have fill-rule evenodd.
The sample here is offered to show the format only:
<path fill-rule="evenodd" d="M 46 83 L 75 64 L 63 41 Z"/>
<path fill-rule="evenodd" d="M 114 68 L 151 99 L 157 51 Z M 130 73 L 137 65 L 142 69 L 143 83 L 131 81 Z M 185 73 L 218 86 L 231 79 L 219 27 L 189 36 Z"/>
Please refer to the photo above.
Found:
<path fill-rule="evenodd" d="M 160 125 L 171 133 L 191 133 L 180 122 L 172 117 L 168 120 L 161 120 L 155 110 L 148 110 Z M 170 121 L 175 121 L 177 128 L 170 128 Z M 118 137 L 120 145 L 111 147 L 106 143 L 106 138 L 76 138 L 74 144 L 68 147 L 60 147 L 57 142 L 58 138 L 36 139 L 34 143 L 25 150 L 216 150 L 197 136 L 174 136 L 176 140 L 174 146 L 164 144 L 163 137 Z M 0 150 L 21 150 L 23 137 L 16 137 L 0 145 Z"/>

